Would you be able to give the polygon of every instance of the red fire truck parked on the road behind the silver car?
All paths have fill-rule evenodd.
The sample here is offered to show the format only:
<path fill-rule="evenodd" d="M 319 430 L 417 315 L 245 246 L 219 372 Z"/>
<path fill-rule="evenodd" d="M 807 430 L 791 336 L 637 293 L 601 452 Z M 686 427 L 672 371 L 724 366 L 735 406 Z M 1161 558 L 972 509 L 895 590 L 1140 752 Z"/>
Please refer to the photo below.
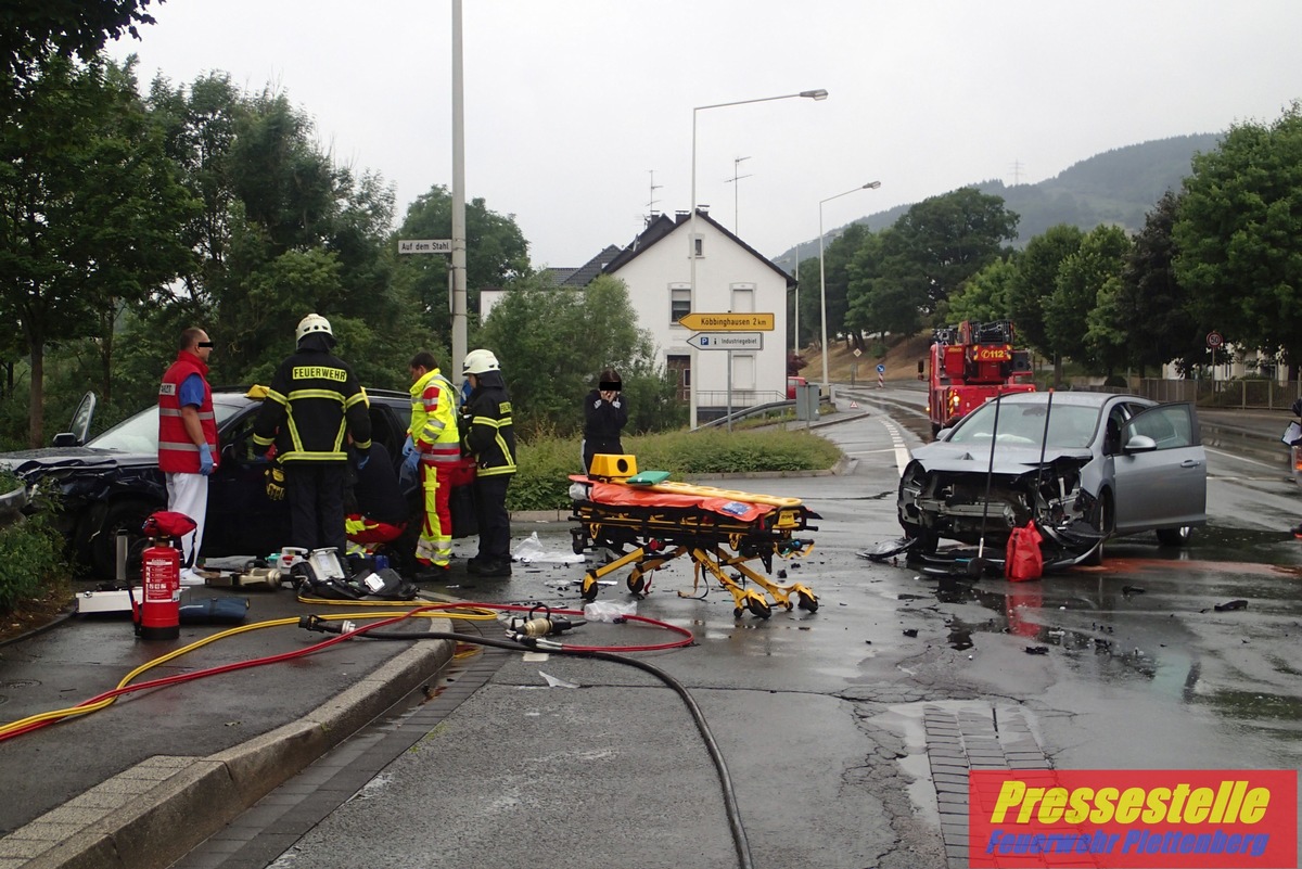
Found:
<path fill-rule="evenodd" d="M 927 416 L 931 433 L 950 428 L 1004 393 L 1031 393 L 1031 354 L 1013 350 L 1009 320 L 962 321 L 932 332 L 927 372 Z"/>

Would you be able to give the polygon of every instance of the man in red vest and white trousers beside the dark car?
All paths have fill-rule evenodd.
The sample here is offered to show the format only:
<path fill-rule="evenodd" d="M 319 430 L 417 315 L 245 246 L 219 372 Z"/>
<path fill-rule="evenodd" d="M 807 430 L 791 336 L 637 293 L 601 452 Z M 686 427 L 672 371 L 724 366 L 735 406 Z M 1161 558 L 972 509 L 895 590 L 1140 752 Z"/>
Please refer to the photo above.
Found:
<path fill-rule="evenodd" d="M 195 522 L 181 539 L 182 585 L 202 585 L 194 572 L 208 513 L 208 475 L 217 467 L 217 421 L 212 415 L 208 356 L 212 341 L 203 329 L 181 333 L 176 362 L 159 386 L 159 470 L 167 477 L 167 509 Z"/>

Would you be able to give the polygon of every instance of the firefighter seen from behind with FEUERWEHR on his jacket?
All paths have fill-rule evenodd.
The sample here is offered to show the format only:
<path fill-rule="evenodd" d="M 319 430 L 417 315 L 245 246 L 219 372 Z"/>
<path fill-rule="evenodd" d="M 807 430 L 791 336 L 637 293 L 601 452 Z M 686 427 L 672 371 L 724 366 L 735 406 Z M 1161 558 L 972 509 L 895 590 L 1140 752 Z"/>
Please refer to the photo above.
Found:
<path fill-rule="evenodd" d="M 289 497 L 289 545 L 333 548 L 342 558 L 344 488 L 348 444 L 358 467 L 371 450 L 371 415 L 366 393 L 348 363 L 331 350 L 335 333 L 319 314 L 309 314 L 296 330 L 298 349 L 280 363 L 254 424 L 254 449 L 276 445 L 285 467 Z"/>

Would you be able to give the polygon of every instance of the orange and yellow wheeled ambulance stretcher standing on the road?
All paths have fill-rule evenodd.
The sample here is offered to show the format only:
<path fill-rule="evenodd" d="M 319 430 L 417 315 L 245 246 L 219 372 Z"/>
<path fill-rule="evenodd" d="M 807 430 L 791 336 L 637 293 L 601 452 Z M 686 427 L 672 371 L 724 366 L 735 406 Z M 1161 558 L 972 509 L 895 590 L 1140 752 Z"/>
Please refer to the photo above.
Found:
<path fill-rule="evenodd" d="M 734 617 L 750 610 L 768 618 L 775 606 L 818 609 L 818 597 L 803 583 L 775 583 L 747 563 L 758 559 L 771 574 L 773 555 L 809 553 L 814 541 L 797 535 L 818 531 L 809 524 L 820 518 L 816 513 L 799 498 L 669 483 L 665 477 L 663 471 L 638 474 L 631 455 L 596 455 L 590 474 L 570 476 L 570 519 L 578 523 L 570 529 L 575 554 L 586 549 L 624 553 L 583 574 L 583 600 L 595 600 L 598 580 L 630 565 L 628 588 L 643 595 L 658 568 L 689 555 L 691 593 L 678 592 L 680 597 L 703 597 L 698 595 L 702 580 L 708 592 L 713 578 L 732 595 Z M 747 580 L 763 591 L 749 587 Z"/>

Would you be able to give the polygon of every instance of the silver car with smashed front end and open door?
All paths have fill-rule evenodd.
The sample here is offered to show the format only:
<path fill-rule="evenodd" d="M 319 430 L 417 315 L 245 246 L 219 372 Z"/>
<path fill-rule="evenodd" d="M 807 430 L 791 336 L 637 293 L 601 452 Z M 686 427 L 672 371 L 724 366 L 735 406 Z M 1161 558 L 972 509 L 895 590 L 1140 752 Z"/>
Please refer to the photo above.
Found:
<path fill-rule="evenodd" d="M 913 555 L 941 540 L 1003 553 L 1034 522 L 1047 563 L 1098 563 L 1104 541 L 1207 523 L 1207 457 L 1193 405 L 1138 395 L 1003 395 L 918 448 L 900 480 Z"/>

